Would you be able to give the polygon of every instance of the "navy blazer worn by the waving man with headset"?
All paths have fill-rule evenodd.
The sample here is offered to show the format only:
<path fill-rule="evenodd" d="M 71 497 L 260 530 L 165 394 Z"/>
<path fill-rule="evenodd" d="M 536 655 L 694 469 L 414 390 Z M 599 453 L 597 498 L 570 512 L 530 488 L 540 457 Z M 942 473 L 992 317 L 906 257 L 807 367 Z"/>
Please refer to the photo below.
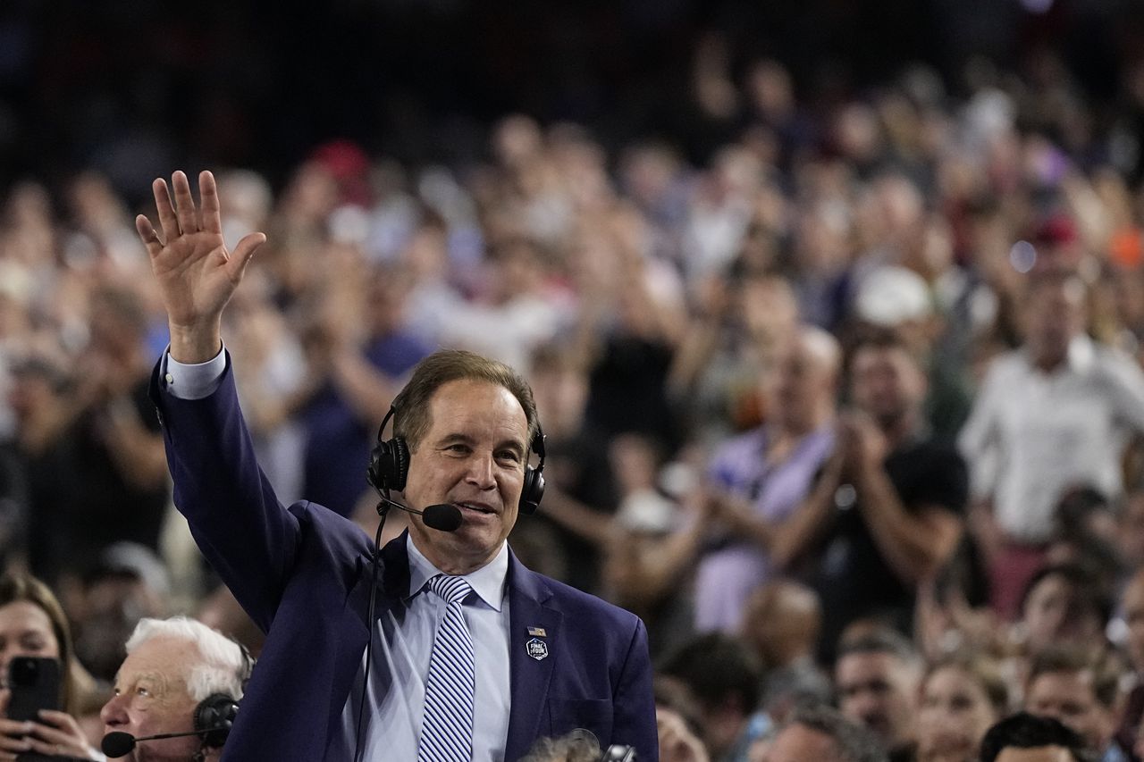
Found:
<path fill-rule="evenodd" d="M 371 538 L 316 503 L 285 508 L 278 501 L 255 461 L 229 357 L 217 391 L 205 399 L 170 396 L 159 371 L 151 395 L 175 506 L 268 634 L 223 760 L 321 762 L 331 733 L 342 732 L 370 634 Z M 382 550 L 378 616 L 408 593 L 408 574 L 403 537 Z M 643 622 L 529 571 L 511 553 L 507 585 L 511 709 L 505 759 L 515 762 L 537 738 L 585 728 L 605 748 L 626 744 L 639 760 L 658 760 Z M 539 640 L 547 657 L 529 654 L 530 628 L 545 630 Z"/>

